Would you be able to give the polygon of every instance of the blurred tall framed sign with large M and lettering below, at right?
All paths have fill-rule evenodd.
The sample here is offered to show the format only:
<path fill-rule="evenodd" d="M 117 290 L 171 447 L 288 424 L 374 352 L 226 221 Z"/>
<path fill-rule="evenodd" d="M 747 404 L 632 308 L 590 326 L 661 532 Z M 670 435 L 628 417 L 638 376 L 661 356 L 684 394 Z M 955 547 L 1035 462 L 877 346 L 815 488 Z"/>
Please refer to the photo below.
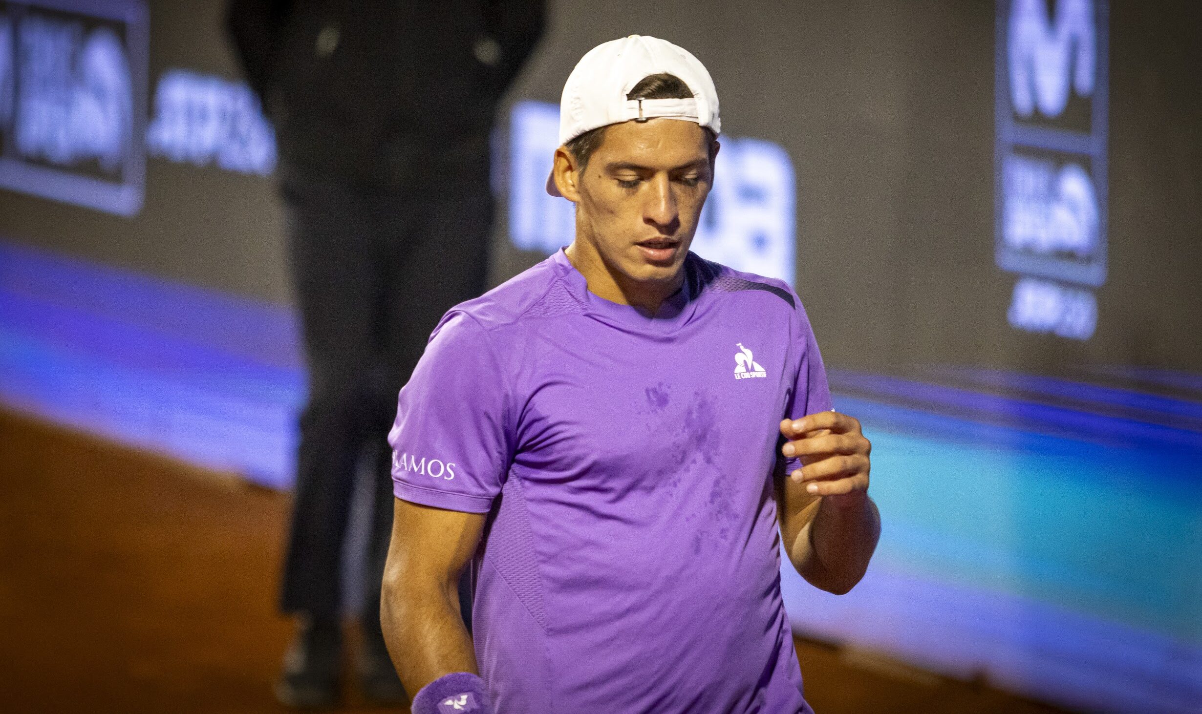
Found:
<path fill-rule="evenodd" d="M 999 0 L 996 262 L 1010 323 L 1089 339 L 1106 281 L 1106 0 Z"/>

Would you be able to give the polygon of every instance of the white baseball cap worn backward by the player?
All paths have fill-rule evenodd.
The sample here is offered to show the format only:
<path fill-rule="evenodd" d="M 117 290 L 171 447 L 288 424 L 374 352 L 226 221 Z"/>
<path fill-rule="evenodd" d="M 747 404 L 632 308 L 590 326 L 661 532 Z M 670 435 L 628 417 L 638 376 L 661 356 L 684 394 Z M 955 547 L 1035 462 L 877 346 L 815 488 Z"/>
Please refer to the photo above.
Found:
<path fill-rule="evenodd" d="M 678 77 L 692 99 L 626 99 L 636 84 L 660 73 Z M 719 133 L 714 81 L 688 49 L 666 40 L 644 35 L 611 40 L 590 49 L 567 76 L 559 99 L 559 143 L 600 126 L 655 118 L 696 121 Z M 547 192 L 560 195 L 552 175 L 547 177 Z"/>

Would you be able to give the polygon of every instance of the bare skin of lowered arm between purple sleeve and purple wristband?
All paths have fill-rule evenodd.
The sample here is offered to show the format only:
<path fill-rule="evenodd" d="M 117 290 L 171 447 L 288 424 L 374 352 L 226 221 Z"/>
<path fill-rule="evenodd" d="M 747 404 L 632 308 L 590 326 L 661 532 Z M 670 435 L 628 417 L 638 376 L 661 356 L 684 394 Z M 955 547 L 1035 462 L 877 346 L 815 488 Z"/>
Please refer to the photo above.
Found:
<path fill-rule="evenodd" d="M 458 583 L 486 516 L 394 501 L 380 620 L 392 664 L 412 695 L 444 674 L 480 673 Z"/>

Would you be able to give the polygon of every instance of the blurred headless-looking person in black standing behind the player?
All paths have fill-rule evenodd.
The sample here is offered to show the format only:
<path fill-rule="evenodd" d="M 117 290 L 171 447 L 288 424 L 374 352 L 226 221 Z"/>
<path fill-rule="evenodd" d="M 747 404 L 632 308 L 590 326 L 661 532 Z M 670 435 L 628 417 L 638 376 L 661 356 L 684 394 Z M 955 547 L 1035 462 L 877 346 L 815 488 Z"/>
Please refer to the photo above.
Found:
<path fill-rule="evenodd" d="M 341 553 L 371 459 L 364 695 L 404 689 L 380 632 L 397 393 L 452 305 L 484 288 L 496 105 L 537 42 L 542 0 L 231 0 L 227 25 L 275 125 L 309 367 L 280 606 L 297 615 L 276 696 L 338 702 Z M 466 599 L 465 599 L 466 601 Z"/>

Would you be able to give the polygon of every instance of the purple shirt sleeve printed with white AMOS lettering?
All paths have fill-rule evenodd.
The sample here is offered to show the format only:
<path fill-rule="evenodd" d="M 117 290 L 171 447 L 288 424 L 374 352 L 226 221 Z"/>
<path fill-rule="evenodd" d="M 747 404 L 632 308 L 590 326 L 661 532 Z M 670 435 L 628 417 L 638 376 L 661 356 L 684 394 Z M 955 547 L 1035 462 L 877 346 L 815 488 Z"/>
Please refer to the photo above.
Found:
<path fill-rule="evenodd" d="M 463 313 L 444 317 L 388 434 L 397 498 L 488 512 L 512 460 L 506 383 L 484 328 Z"/>

